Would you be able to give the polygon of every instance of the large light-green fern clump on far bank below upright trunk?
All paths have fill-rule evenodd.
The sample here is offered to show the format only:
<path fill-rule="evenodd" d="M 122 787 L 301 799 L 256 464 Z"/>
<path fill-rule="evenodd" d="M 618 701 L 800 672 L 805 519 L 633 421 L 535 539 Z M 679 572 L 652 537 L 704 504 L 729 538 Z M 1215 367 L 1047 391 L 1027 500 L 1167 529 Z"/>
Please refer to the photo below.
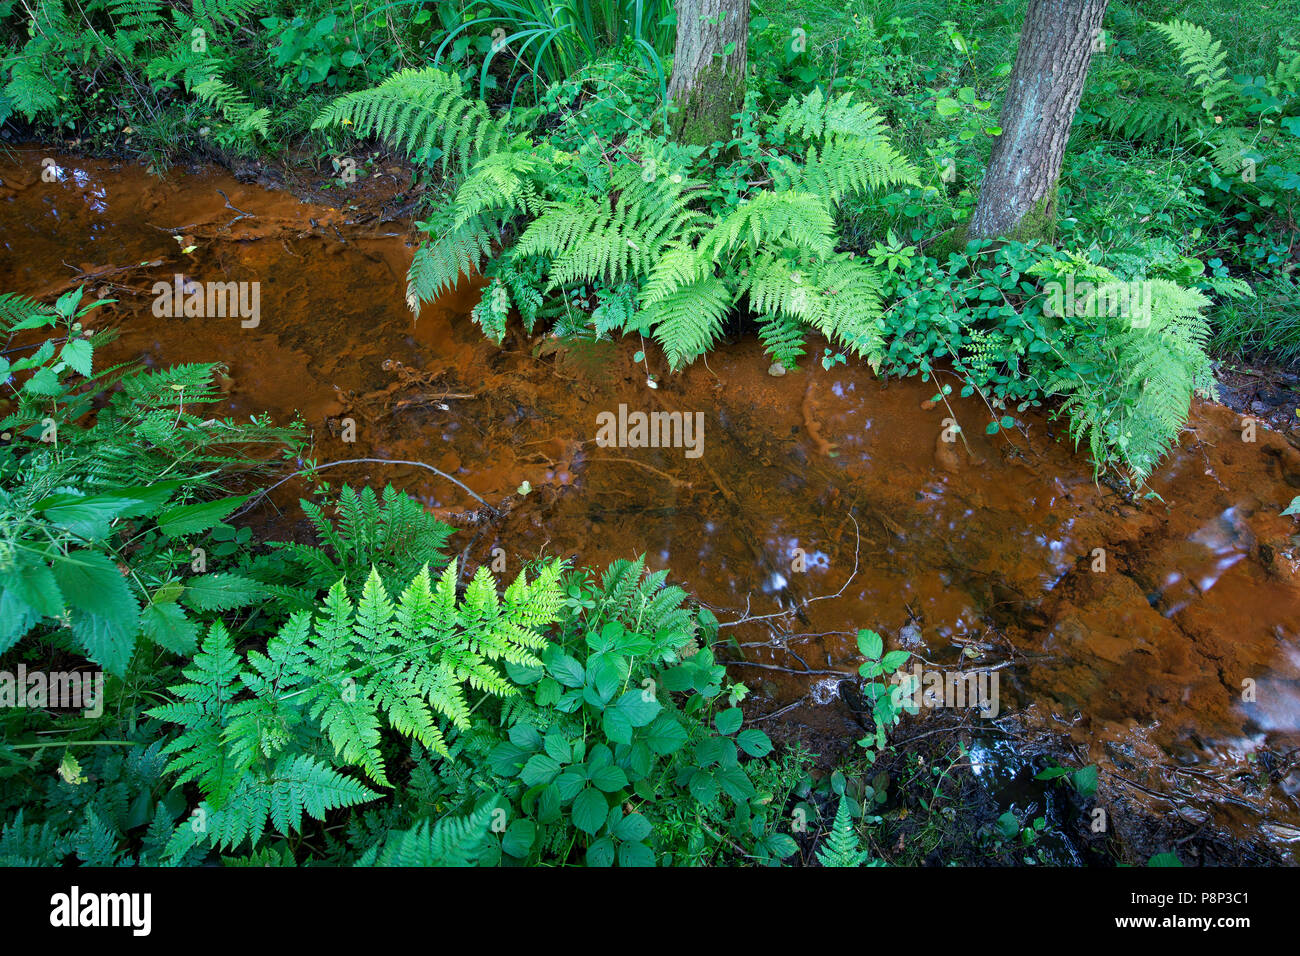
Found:
<path fill-rule="evenodd" d="M 529 137 L 507 140 L 506 127 L 463 95 L 459 79 L 437 70 L 398 74 L 341 98 L 316 125 L 344 121 L 425 160 L 460 157 L 464 176 L 451 202 L 420 224 L 430 241 L 410 272 L 407 298 L 416 311 L 515 233 L 517 241 L 488 267 L 494 281 L 474 310 L 498 342 L 511 306 L 532 329 L 543 294 L 593 287 L 608 303 L 628 286 L 614 297 L 620 307 L 604 308 L 592 325 L 598 334 L 651 334 L 673 368 L 712 345 L 741 299 L 759 313 L 759 334 L 786 364 L 809 330 L 855 355 L 881 351 L 879 278 L 836 250 L 835 215 L 842 199 L 915 173 L 875 111 L 848 95 L 792 98 L 770 117 L 774 187 L 748 189 L 727 207 L 694 177 L 698 151 L 677 155 L 640 133 L 621 142 L 592 135 L 576 150 Z M 541 287 L 530 276 L 545 278 Z"/>

